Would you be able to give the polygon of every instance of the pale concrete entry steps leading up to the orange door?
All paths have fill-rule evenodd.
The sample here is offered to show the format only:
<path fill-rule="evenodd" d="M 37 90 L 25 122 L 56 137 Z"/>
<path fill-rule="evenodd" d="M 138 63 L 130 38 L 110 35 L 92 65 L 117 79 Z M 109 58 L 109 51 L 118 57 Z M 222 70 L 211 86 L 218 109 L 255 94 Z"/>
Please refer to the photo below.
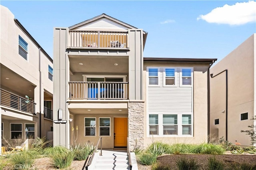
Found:
<path fill-rule="evenodd" d="M 132 170 L 138 170 L 134 152 L 131 152 L 131 158 Z M 100 150 L 98 150 L 88 170 L 130 170 L 127 152 L 118 149 L 102 150 L 102 156 L 100 156 Z"/>

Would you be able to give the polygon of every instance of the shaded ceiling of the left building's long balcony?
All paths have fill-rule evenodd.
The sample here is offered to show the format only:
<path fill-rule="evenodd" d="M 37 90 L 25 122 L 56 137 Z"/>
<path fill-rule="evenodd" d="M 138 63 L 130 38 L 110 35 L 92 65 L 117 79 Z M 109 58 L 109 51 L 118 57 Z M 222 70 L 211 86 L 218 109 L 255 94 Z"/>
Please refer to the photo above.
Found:
<path fill-rule="evenodd" d="M 16 91 L 17 93 L 19 93 L 18 95 L 23 94 L 34 98 L 35 86 L 32 85 L 32 83 L 30 83 L 14 71 L 8 69 L 4 65 L 1 64 L 0 67 L 1 86 L 3 85 L 4 87 L 11 89 L 12 91 Z"/>

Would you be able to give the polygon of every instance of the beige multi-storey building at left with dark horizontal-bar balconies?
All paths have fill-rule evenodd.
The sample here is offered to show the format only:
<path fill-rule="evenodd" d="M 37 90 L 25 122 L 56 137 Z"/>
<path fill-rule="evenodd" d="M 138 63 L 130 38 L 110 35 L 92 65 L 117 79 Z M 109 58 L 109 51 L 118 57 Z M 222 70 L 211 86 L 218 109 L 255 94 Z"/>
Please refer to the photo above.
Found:
<path fill-rule="evenodd" d="M 1 135 L 6 139 L 44 137 L 53 130 L 52 58 L 8 8 L 1 6 L 0 12 Z"/>

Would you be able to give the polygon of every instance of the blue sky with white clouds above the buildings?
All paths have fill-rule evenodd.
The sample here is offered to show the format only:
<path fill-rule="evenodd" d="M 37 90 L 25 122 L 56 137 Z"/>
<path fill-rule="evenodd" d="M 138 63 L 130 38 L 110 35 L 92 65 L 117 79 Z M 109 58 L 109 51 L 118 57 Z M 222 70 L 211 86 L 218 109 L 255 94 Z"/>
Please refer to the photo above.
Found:
<path fill-rule="evenodd" d="M 53 57 L 53 28 L 102 13 L 148 32 L 144 57 L 217 58 L 256 33 L 256 1 L 4 1 Z"/>

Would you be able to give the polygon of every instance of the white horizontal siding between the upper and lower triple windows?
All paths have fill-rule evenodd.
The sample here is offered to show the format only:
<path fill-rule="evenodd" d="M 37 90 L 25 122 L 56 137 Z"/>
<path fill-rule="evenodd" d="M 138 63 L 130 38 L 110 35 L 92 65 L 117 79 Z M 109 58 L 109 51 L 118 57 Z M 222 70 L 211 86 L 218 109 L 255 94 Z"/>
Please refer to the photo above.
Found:
<path fill-rule="evenodd" d="M 160 86 L 148 85 L 148 113 L 192 113 L 192 86 L 180 87 L 180 69 L 176 69 L 176 86 L 163 87 L 164 73 L 162 68 L 159 75 Z"/>

